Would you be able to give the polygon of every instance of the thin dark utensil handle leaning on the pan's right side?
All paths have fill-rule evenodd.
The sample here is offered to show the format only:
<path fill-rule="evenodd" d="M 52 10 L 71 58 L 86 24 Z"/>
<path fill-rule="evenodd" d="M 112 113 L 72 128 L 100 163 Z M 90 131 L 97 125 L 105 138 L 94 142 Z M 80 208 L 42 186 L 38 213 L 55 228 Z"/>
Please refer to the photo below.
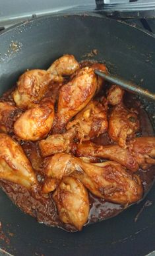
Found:
<path fill-rule="evenodd" d="M 94 72 L 96 73 L 96 75 L 100 75 L 100 77 L 103 77 L 108 82 L 113 83 L 115 85 L 119 85 L 123 89 L 131 91 L 131 93 L 135 93 L 137 95 L 144 96 L 148 99 L 152 99 L 153 101 L 155 101 L 154 93 L 150 93 L 148 90 L 142 89 L 141 87 L 135 85 L 135 83 L 131 81 L 127 81 L 121 77 L 116 77 L 115 75 L 108 75 L 107 73 L 104 73 L 98 69 L 96 69 Z"/>

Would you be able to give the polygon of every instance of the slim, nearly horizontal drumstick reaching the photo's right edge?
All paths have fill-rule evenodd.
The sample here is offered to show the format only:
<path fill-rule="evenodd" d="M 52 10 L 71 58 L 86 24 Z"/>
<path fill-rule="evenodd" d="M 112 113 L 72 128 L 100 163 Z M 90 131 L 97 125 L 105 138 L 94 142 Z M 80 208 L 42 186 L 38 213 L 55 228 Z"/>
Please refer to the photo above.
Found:
<path fill-rule="evenodd" d="M 155 165 L 155 138 L 140 137 L 130 140 L 127 148 L 123 149 L 117 144 L 108 146 L 99 146 L 92 142 L 83 142 L 82 144 L 73 144 L 71 151 L 78 157 L 89 157 L 92 161 L 96 158 L 104 158 L 117 161 L 124 165 L 130 171 L 148 169 Z"/>

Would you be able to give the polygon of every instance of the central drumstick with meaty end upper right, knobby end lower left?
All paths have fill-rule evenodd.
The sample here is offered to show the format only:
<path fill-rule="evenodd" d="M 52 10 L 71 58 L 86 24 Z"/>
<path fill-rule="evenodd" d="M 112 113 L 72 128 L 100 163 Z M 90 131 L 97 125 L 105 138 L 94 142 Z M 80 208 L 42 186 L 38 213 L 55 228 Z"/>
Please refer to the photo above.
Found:
<path fill-rule="evenodd" d="M 75 116 L 75 120 L 67 124 L 67 129 L 68 131 L 64 134 L 53 134 L 39 142 L 42 156 L 46 157 L 62 152 L 69 153 L 73 138 L 82 142 L 82 140 L 90 140 L 106 132 L 108 121 L 105 108 L 98 101 L 90 101 Z"/>

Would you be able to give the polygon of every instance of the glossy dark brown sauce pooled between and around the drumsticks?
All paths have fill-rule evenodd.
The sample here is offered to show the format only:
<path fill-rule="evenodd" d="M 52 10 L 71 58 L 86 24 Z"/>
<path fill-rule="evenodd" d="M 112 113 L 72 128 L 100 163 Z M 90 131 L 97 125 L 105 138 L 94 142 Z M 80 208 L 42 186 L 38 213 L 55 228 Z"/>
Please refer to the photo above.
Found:
<path fill-rule="evenodd" d="M 13 101 L 11 97 L 11 91 L 12 90 L 5 93 L 1 100 Z M 128 107 L 134 105 L 136 108 L 139 108 L 141 131 L 140 134 L 137 134 L 137 136 L 153 136 L 154 134 L 152 124 L 150 123 L 146 111 L 142 108 L 139 101 L 136 101 L 135 104 L 135 96 L 130 95 L 129 93 L 127 93 L 125 97 L 125 103 Z M 95 138 L 93 142 L 102 145 L 108 145 L 112 143 L 108 137 L 108 134 L 103 134 L 98 138 Z M 34 168 L 34 171 L 36 172 L 36 175 L 38 177 L 38 181 L 42 183 L 42 180 L 44 179 L 44 159 L 40 155 L 38 142 L 19 141 L 19 143 L 24 149 L 24 152 L 26 153 L 28 159 L 30 159 L 32 167 Z M 138 173 L 142 179 L 145 196 L 146 192 L 150 189 L 154 181 L 155 167 L 153 166 L 146 171 L 142 171 L 141 169 L 139 169 Z M 46 197 L 41 196 L 38 191 L 33 191 L 32 194 L 30 194 L 30 192 L 26 188 L 22 187 L 21 185 L 16 185 L 15 183 L 11 183 L 9 181 L 0 181 L 0 187 L 1 189 L 3 189 L 3 191 L 6 192 L 6 194 L 9 196 L 9 198 L 11 198 L 16 206 L 18 206 L 22 211 L 36 218 L 38 222 L 44 223 L 48 226 L 57 226 L 69 232 L 76 231 L 73 226 L 60 222 L 55 202 L 53 201 L 51 194 Z M 106 202 L 106 200 L 102 198 L 97 198 L 90 192 L 89 198 L 90 213 L 86 225 L 116 216 L 125 208 L 127 208 L 127 206 L 125 205 Z"/>

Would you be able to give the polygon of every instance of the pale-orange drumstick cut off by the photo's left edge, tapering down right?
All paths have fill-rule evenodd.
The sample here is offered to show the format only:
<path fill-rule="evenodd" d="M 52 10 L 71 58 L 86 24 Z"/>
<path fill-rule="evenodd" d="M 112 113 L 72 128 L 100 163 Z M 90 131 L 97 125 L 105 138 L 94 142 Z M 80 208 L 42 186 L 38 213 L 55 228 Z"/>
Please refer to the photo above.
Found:
<path fill-rule="evenodd" d="M 30 161 L 7 134 L 0 134 L 0 179 L 20 184 L 29 190 L 37 185 Z"/>

